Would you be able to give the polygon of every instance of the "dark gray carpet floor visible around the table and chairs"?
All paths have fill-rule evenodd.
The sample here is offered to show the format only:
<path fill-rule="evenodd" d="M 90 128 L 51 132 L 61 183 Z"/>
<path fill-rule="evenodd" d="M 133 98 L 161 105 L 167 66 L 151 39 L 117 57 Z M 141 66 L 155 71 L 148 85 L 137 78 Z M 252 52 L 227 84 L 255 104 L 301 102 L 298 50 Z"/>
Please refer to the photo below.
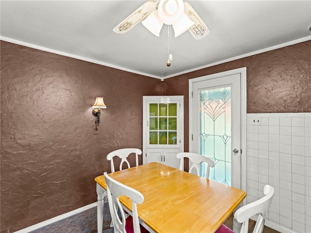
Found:
<path fill-rule="evenodd" d="M 110 228 L 110 212 L 108 203 L 104 203 L 103 233 L 113 233 Z M 233 214 L 229 216 L 224 224 L 232 230 Z M 253 232 L 256 222 L 249 220 L 248 232 Z M 90 208 L 76 215 L 54 222 L 48 226 L 41 227 L 31 233 L 97 233 L 97 207 Z M 263 233 L 279 233 L 269 227 L 263 228 Z"/>

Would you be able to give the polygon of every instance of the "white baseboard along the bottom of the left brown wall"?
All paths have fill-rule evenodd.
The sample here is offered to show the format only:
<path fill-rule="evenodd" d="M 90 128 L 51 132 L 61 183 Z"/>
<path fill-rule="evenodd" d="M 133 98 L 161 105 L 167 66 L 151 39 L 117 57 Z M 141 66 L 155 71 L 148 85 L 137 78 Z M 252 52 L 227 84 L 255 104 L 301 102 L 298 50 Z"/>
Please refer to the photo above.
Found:
<path fill-rule="evenodd" d="M 69 211 L 68 213 L 65 213 L 65 214 L 63 214 L 63 215 L 59 215 L 59 216 L 56 216 L 56 217 L 52 217 L 52 218 L 50 218 L 50 219 L 48 219 L 48 220 L 45 220 L 45 221 L 43 221 L 43 222 L 37 223 L 37 224 L 35 224 L 35 225 L 32 225 L 32 226 L 30 226 L 30 227 L 24 228 L 24 229 L 19 230 L 19 231 L 15 232 L 15 233 L 29 233 L 29 232 L 34 231 L 34 230 L 36 230 L 36 229 L 39 229 L 39 228 L 41 228 L 41 227 L 45 227 L 45 226 L 47 226 L 47 225 L 49 225 L 49 224 L 51 224 L 51 223 L 53 223 L 53 222 L 57 222 L 57 221 L 62 220 L 62 219 L 64 219 L 64 218 L 66 218 L 66 217 L 69 217 L 69 216 L 78 214 L 78 213 L 80 213 L 80 212 L 83 212 L 83 211 L 85 211 L 85 210 L 87 210 L 87 209 L 93 208 L 93 207 L 95 207 L 95 206 L 97 206 L 97 202 L 94 202 L 94 203 L 92 203 L 92 204 L 83 206 L 83 207 L 81 207 L 81 208 L 79 208 L 79 209 L 76 209 L 76 210 Z"/>

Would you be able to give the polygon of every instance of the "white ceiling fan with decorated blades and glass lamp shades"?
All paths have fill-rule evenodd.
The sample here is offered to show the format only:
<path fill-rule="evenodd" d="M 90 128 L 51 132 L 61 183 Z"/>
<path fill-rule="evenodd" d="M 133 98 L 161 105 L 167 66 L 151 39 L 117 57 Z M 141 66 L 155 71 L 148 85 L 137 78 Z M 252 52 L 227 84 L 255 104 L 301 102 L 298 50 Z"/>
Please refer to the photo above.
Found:
<path fill-rule="evenodd" d="M 210 32 L 190 4 L 183 0 L 147 1 L 113 31 L 126 33 L 140 21 L 156 36 L 159 36 L 163 24 L 173 26 L 175 37 L 188 30 L 195 39 L 202 39 Z"/>

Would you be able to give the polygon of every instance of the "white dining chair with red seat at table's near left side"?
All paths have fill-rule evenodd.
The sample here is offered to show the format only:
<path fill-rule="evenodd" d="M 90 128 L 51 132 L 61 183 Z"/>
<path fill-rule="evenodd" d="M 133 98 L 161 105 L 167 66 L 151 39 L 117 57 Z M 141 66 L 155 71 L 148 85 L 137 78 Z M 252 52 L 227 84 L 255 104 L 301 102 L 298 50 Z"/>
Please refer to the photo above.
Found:
<path fill-rule="evenodd" d="M 108 176 L 104 172 L 105 181 L 107 184 L 107 195 L 110 215 L 115 233 L 147 233 L 148 231 L 139 224 L 137 204 L 144 201 L 144 196 L 129 186 L 126 186 Z M 132 216 L 125 217 L 119 197 L 124 195 L 132 200 Z M 121 212 L 121 219 L 118 215 L 118 210 Z"/>

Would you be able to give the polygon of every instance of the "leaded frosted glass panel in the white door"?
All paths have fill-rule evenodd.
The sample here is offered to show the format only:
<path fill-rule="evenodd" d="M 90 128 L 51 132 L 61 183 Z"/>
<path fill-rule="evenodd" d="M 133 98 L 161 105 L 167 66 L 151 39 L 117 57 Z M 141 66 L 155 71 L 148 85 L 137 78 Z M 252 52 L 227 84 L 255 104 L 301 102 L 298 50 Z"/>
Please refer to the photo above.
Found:
<path fill-rule="evenodd" d="M 200 154 L 215 163 L 209 179 L 231 185 L 231 87 L 201 90 L 199 95 Z M 200 176 L 206 166 L 201 164 Z"/>

